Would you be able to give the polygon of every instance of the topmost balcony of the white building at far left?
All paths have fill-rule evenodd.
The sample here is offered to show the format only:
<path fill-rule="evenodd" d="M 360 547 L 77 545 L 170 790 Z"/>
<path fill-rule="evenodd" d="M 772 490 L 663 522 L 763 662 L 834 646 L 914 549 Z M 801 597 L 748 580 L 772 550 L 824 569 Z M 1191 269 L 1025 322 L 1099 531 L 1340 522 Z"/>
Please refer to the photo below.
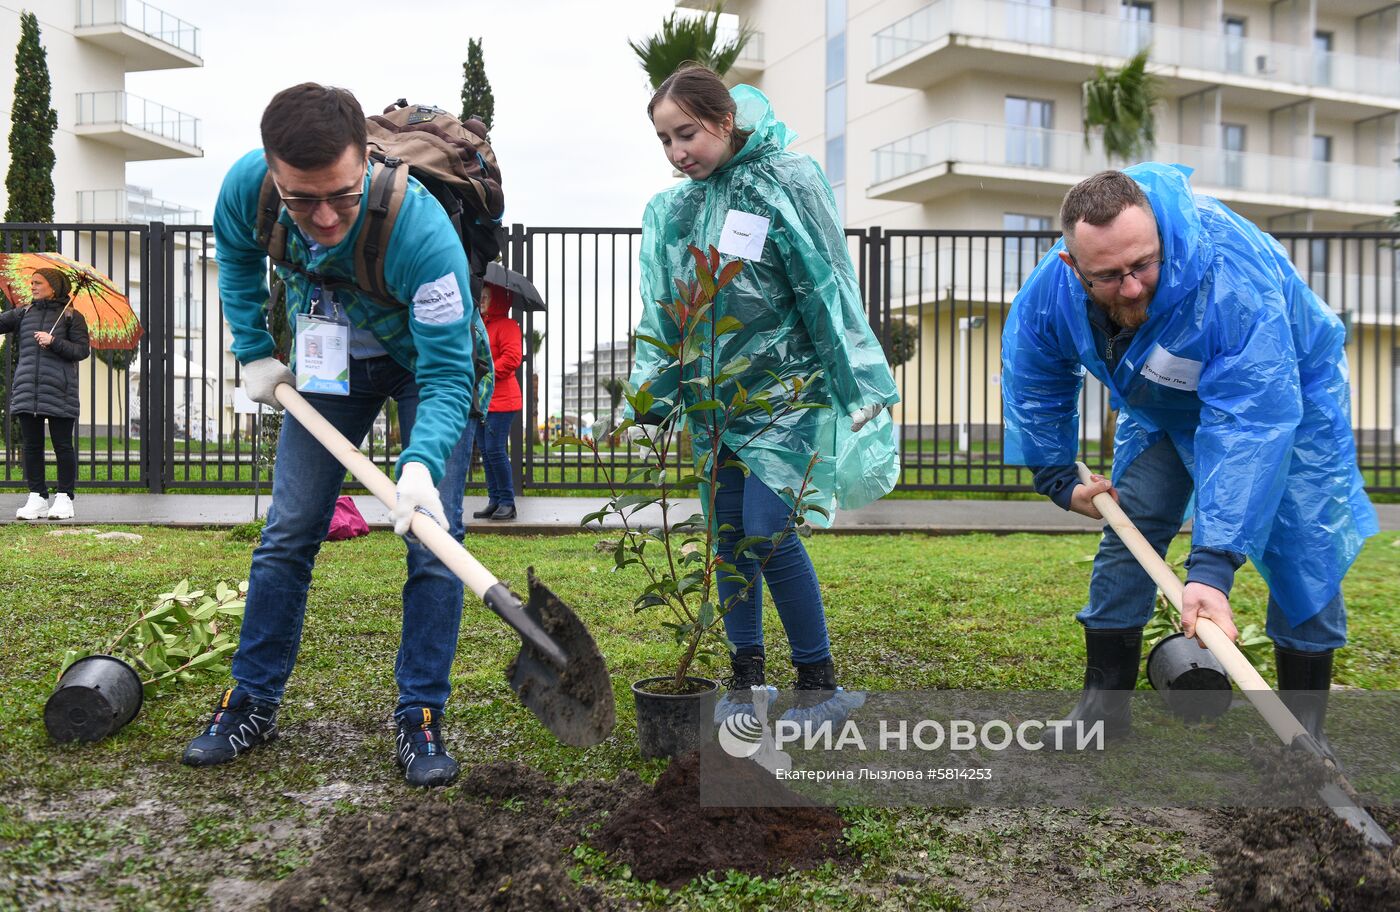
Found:
<path fill-rule="evenodd" d="M 127 73 L 204 66 L 199 29 L 143 0 L 78 0 L 73 35 L 123 57 Z"/>

